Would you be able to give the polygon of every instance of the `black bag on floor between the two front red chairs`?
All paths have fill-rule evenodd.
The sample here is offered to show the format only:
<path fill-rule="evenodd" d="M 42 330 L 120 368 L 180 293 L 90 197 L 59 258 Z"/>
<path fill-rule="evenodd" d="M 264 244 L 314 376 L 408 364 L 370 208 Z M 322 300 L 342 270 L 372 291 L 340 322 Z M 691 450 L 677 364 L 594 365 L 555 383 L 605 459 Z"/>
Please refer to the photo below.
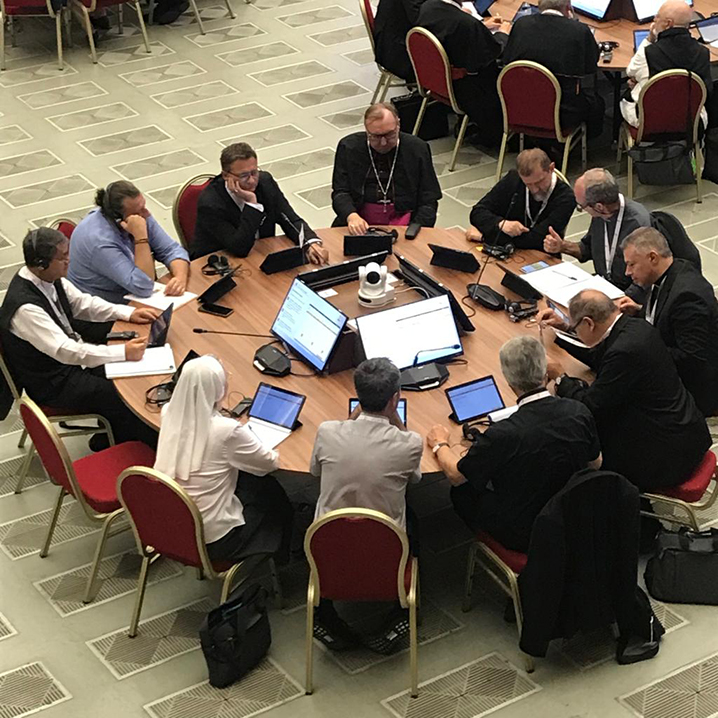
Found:
<path fill-rule="evenodd" d="M 267 616 L 267 591 L 252 584 L 207 614 L 199 629 L 210 685 L 236 683 L 267 654 L 272 632 Z"/>

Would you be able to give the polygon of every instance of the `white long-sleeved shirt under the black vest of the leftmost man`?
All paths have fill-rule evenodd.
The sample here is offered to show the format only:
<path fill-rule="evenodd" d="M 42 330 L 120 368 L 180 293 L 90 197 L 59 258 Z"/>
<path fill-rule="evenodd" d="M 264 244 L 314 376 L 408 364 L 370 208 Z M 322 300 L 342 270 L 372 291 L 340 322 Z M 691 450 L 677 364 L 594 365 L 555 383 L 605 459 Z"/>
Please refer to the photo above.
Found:
<path fill-rule="evenodd" d="M 31 281 L 48 298 L 50 305 L 56 309 L 58 318 L 62 321 L 63 312 L 57 299 L 57 290 L 50 282 L 43 282 L 27 267 L 20 272 L 23 279 Z M 67 279 L 62 279 L 62 288 L 67 295 L 73 316 L 91 322 L 127 321 L 135 307 L 119 304 L 110 304 L 100 297 L 85 294 Z M 58 326 L 52 317 L 42 307 L 36 304 L 23 304 L 10 322 L 10 331 L 16 337 L 24 339 L 43 354 L 57 359 L 61 364 L 73 366 L 96 367 L 113 361 L 124 361 L 125 346 L 117 344 L 105 346 L 103 344 L 87 344 L 82 339 L 74 339 Z"/>

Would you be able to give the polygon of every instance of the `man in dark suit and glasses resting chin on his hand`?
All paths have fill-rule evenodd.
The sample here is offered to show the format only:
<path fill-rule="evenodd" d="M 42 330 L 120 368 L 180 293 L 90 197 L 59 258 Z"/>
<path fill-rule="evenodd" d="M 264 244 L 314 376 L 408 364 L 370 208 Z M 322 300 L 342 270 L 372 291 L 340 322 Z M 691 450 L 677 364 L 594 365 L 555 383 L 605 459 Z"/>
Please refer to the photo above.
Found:
<path fill-rule="evenodd" d="M 296 244 L 304 238 L 312 264 L 326 263 L 327 251 L 309 225 L 292 209 L 269 172 L 257 166 L 257 153 L 245 142 L 228 145 L 220 155 L 222 172 L 202 191 L 190 246 L 192 259 L 226 250 L 246 257 L 254 242 L 276 234 L 276 224 Z"/>

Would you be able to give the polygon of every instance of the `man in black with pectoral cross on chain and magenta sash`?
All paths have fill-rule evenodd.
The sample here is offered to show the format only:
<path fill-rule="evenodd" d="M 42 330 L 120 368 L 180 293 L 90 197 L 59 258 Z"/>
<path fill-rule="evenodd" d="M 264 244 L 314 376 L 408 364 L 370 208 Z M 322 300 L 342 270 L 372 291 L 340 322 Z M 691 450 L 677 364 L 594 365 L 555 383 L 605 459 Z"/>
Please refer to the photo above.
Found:
<path fill-rule="evenodd" d="M 363 234 L 370 225 L 436 224 L 441 188 L 427 142 L 401 132 L 391 103 L 364 113 L 366 132 L 339 140 L 332 175 L 334 227 Z"/>

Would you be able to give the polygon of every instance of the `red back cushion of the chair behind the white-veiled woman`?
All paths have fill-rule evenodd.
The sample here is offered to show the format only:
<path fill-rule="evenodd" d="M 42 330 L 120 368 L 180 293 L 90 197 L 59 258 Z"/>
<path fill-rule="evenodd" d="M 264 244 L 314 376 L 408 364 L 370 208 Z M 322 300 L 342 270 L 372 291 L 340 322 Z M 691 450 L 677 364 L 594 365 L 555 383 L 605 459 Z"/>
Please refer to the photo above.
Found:
<path fill-rule="evenodd" d="M 169 479 L 132 473 L 121 476 L 117 494 L 143 546 L 185 566 L 202 566 L 195 517 L 199 513 L 192 512 L 191 499 L 179 486 L 170 486 Z"/>

